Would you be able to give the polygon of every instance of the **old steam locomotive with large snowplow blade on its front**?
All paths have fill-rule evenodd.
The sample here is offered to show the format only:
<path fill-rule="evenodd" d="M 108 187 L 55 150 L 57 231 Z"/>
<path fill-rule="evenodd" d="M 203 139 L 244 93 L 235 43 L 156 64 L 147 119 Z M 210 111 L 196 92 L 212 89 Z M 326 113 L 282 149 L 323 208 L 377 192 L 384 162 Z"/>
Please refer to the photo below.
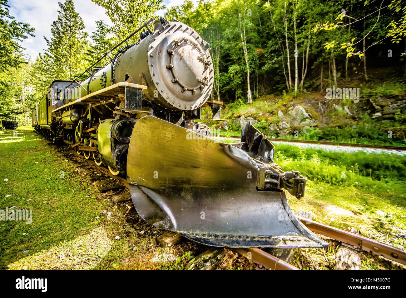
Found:
<path fill-rule="evenodd" d="M 197 121 L 203 106 L 220 119 L 210 45 L 184 23 L 152 21 L 84 81 L 52 82 L 32 126 L 125 177 L 149 224 L 214 246 L 327 245 L 292 215 L 283 189 L 301 198 L 307 178 L 273 162 L 270 140 L 247 123 L 241 142 L 222 143 Z"/>

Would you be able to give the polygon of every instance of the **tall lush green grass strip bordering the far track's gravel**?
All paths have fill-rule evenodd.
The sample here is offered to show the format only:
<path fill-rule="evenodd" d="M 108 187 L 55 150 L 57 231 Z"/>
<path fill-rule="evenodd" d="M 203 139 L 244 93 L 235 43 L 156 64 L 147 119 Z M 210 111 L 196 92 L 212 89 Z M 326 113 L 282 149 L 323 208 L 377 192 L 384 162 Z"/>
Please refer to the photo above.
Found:
<path fill-rule="evenodd" d="M 337 153 L 279 144 L 275 160 L 287 167 L 284 170 L 299 170 L 314 181 L 403 193 L 406 190 L 406 178 L 399 175 L 406 171 L 405 156 Z"/>

